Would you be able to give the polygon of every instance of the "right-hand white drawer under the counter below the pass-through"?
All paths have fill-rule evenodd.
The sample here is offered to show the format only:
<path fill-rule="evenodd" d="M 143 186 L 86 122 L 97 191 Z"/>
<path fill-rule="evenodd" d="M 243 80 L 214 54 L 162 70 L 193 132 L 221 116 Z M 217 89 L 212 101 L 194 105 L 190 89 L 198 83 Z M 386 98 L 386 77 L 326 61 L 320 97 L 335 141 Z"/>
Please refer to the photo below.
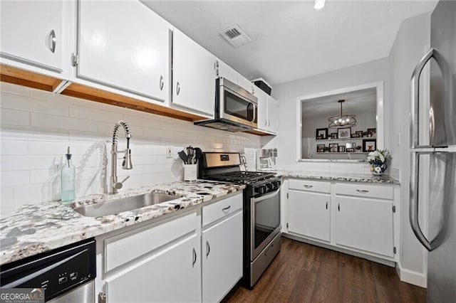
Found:
<path fill-rule="evenodd" d="M 334 185 L 334 192 L 336 195 L 393 200 L 393 186 L 336 183 Z"/>

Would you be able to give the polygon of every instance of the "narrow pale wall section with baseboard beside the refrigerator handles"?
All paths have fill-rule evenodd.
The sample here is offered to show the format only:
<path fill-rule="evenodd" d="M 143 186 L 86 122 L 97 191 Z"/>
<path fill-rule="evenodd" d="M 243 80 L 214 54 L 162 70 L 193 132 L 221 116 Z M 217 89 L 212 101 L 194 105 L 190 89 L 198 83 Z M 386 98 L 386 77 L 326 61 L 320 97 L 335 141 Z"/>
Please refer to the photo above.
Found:
<path fill-rule="evenodd" d="M 410 77 L 415 65 L 429 50 L 430 14 L 409 18 L 400 26 L 389 56 L 390 117 L 389 148 L 393 154 L 392 165 L 400 170 L 401 191 L 401 255 L 400 263 L 404 270 L 413 275 L 425 276 L 425 250 L 413 235 L 408 220 L 408 201 L 410 183 Z"/>

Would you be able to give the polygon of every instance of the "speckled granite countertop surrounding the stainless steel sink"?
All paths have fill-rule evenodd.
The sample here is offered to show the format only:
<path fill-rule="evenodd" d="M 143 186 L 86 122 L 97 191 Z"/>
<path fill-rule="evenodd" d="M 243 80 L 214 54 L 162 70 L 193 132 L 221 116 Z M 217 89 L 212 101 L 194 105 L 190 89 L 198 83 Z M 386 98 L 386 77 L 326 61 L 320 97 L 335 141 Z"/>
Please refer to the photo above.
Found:
<path fill-rule="evenodd" d="M 70 206 L 60 201 L 26 205 L 7 218 L 0 219 L 0 264 L 20 260 L 40 252 L 76 243 L 125 226 L 144 222 L 182 208 L 195 206 L 214 198 L 242 191 L 245 186 L 223 182 L 182 181 L 155 184 L 126 190 L 114 195 L 95 194 L 78 198 Z M 118 215 L 90 218 L 81 216 L 73 208 L 115 198 L 136 196 L 142 193 L 169 193 L 180 196 L 177 200 L 125 211 Z"/>

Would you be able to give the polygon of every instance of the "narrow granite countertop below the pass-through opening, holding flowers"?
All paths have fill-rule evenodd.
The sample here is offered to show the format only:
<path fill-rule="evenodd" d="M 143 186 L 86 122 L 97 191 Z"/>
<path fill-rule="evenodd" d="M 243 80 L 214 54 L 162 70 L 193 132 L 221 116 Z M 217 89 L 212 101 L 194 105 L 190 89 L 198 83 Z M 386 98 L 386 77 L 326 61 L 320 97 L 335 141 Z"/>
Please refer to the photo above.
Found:
<path fill-rule="evenodd" d="M 277 174 L 286 178 L 315 179 L 326 181 L 368 182 L 380 184 L 400 184 L 390 176 L 372 176 L 371 174 L 345 174 L 325 171 L 277 171 Z"/>

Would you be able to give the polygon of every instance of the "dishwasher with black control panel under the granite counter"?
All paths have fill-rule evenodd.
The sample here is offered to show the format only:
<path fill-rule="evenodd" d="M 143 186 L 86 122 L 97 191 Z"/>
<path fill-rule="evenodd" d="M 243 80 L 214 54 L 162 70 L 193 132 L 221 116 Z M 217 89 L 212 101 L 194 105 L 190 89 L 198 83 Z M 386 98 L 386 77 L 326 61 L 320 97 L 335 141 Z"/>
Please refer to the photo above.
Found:
<path fill-rule="evenodd" d="M 1 288 L 42 288 L 46 302 L 95 302 L 95 240 L 0 266 Z"/>

